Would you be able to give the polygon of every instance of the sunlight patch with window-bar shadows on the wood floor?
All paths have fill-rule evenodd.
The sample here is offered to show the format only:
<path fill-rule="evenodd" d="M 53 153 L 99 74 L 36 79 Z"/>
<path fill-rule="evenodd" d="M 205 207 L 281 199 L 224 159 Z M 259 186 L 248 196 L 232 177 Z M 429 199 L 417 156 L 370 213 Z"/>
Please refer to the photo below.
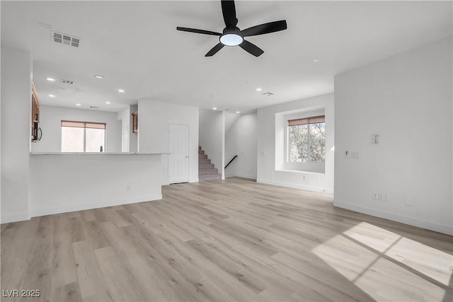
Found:
<path fill-rule="evenodd" d="M 376 300 L 442 301 L 453 256 L 362 222 L 313 252 Z"/>

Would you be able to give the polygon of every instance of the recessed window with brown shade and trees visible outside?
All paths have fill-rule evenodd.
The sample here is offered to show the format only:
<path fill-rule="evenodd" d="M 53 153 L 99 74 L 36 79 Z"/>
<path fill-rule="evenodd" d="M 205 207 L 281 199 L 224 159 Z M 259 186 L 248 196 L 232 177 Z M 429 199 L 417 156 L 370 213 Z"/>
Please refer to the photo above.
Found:
<path fill-rule="evenodd" d="M 288 121 L 288 161 L 326 161 L 324 115 Z"/>

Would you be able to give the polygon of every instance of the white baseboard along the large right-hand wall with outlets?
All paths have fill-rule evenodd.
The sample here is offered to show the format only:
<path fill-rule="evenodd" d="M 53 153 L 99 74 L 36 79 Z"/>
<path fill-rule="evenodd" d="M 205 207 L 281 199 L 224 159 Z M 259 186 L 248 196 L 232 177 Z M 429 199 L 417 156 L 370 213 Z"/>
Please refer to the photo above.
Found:
<path fill-rule="evenodd" d="M 363 214 L 369 214 L 372 216 L 377 216 L 379 218 L 389 219 L 391 221 L 401 222 L 408 224 L 410 226 L 418 226 L 419 228 L 426 228 L 430 231 L 435 231 L 439 233 L 444 233 L 447 235 L 453 235 L 453 226 L 447 226 L 445 224 L 436 223 L 432 221 L 426 221 L 422 219 L 415 219 L 413 217 L 401 216 L 398 214 L 389 213 L 386 211 L 380 211 L 377 209 L 371 209 L 368 207 L 357 206 L 357 204 L 348 204 L 347 202 L 341 202 L 338 199 L 333 200 L 333 205 L 335 207 L 348 209 L 351 211 L 357 211 Z"/>

